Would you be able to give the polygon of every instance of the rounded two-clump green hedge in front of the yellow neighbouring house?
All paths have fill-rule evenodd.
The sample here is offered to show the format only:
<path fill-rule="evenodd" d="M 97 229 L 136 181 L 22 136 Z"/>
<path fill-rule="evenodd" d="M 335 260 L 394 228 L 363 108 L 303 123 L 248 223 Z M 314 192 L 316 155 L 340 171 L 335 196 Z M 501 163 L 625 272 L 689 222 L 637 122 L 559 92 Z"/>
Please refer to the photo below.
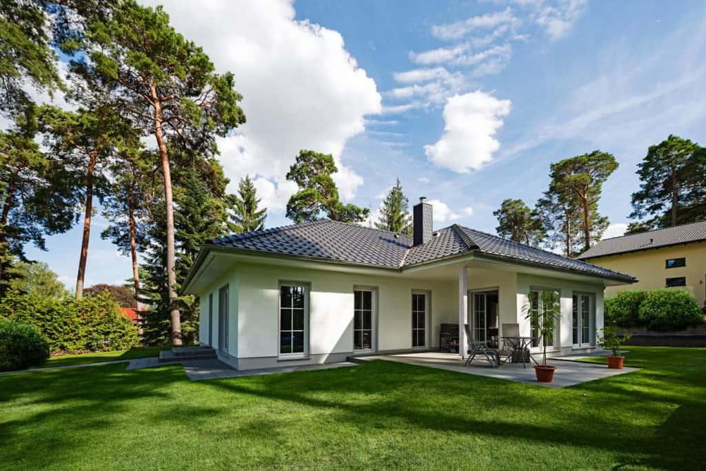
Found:
<path fill-rule="evenodd" d="M 606 323 L 679 330 L 703 322 L 693 294 L 683 290 L 627 290 L 606 298 Z"/>

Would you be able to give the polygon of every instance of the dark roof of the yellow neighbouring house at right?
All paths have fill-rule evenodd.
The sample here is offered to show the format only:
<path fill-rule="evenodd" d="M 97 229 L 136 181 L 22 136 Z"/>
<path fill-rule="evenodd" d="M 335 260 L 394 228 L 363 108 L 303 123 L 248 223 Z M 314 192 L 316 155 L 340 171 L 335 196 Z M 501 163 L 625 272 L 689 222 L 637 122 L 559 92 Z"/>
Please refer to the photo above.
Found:
<path fill-rule="evenodd" d="M 706 241 L 706 221 L 605 239 L 578 258 L 593 258 Z"/>

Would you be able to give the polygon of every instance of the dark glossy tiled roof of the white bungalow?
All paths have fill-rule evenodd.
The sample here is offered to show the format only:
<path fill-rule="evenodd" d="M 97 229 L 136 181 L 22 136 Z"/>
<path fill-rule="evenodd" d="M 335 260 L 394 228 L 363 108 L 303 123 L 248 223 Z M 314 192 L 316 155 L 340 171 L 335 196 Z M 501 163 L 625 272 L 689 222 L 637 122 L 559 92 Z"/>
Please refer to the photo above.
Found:
<path fill-rule="evenodd" d="M 417 266 L 473 251 L 535 266 L 575 270 L 626 282 L 634 281 L 629 275 L 456 224 L 439 229 L 434 232 L 429 242 L 417 246 L 412 246 L 412 237 L 403 234 L 330 220 L 221 237 L 207 242 L 206 245 L 253 254 L 296 256 L 394 269 Z"/>

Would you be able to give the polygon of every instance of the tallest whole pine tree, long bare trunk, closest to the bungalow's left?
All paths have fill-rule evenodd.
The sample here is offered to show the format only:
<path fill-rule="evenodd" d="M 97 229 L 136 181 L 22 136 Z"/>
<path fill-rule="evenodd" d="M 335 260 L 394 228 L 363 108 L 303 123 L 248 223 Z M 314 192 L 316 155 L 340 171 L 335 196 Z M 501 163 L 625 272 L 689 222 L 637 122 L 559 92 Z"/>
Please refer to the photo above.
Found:
<path fill-rule="evenodd" d="M 133 126 L 155 139 L 164 183 L 167 279 L 172 335 L 181 344 L 177 302 L 173 156 L 180 145 L 213 153 L 215 137 L 245 122 L 232 73 L 218 74 L 213 62 L 169 25 L 161 6 L 121 1 L 104 21 L 90 25 L 71 62 L 90 87 L 107 90 L 107 102 Z"/>

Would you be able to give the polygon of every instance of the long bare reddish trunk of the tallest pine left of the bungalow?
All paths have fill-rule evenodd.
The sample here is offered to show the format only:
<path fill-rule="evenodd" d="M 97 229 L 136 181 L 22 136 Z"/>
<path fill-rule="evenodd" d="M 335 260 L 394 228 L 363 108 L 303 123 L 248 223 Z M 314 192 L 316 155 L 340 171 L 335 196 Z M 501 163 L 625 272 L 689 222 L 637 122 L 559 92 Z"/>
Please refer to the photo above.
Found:
<path fill-rule="evenodd" d="M 167 283 L 169 284 L 169 316 L 172 318 L 172 343 L 181 345 L 181 315 L 177 305 L 177 268 L 176 250 L 174 249 L 174 203 L 172 198 L 172 172 L 169 169 L 169 154 L 164 142 L 162 130 L 162 104 L 157 99 L 157 90 L 152 87 L 152 99 L 155 107 L 155 137 L 160 149 L 162 173 L 164 174 L 164 201 L 167 206 Z"/>

